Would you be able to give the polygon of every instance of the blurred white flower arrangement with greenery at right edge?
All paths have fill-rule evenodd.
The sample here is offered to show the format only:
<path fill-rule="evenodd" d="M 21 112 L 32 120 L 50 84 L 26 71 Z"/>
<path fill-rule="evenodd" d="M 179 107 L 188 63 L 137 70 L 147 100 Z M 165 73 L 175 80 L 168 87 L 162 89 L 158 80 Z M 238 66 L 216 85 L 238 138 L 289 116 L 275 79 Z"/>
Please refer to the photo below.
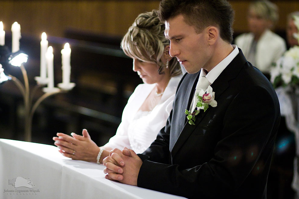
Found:
<path fill-rule="evenodd" d="M 299 30 L 299 17 L 294 16 L 294 23 Z M 299 34 L 293 35 L 298 39 Z M 280 85 L 283 87 L 299 86 L 299 46 L 290 48 L 285 54 L 274 63 L 274 67 L 270 71 L 271 83 L 276 88 Z"/>

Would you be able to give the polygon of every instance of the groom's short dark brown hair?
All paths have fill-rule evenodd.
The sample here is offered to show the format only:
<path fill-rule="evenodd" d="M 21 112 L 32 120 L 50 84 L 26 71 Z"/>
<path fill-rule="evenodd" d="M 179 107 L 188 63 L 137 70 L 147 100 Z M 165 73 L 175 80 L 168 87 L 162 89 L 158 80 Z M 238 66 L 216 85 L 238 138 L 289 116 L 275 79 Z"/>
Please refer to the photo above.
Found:
<path fill-rule="evenodd" d="M 226 0 L 162 0 L 159 5 L 159 18 L 167 21 L 182 14 L 185 22 L 201 33 L 208 26 L 220 29 L 220 37 L 233 41 L 234 11 Z"/>

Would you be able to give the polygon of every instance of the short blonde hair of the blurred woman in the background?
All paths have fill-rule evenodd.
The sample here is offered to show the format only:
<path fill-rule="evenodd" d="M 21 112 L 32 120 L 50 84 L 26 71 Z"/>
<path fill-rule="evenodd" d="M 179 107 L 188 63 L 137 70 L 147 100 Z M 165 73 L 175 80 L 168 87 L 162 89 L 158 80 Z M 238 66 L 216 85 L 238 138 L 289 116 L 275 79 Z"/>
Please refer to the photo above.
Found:
<path fill-rule="evenodd" d="M 263 19 L 271 21 L 275 25 L 279 19 L 278 7 L 268 0 L 259 0 L 251 3 L 249 9 L 252 9 Z"/>

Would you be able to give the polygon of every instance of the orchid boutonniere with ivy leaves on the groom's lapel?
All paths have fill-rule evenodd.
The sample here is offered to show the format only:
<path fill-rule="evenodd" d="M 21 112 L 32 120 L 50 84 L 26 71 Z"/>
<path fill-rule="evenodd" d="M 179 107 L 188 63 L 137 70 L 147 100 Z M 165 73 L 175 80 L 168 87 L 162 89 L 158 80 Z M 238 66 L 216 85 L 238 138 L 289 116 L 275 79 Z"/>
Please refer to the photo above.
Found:
<path fill-rule="evenodd" d="M 195 115 L 198 115 L 201 109 L 203 109 L 205 112 L 209 108 L 209 105 L 212 107 L 217 106 L 217 101 L 215 100 L 215 92 L 213 92 L 211 86 L 207 87 L 206 92 L 201 90 L 199 93 L 196 93 L 195 95 L 197 98 L 197 109 L 194 109 L 193 112 L 185 109 L 185 114 L 187 115 L 188 123 L 190 125 L 195 125 Z"/>

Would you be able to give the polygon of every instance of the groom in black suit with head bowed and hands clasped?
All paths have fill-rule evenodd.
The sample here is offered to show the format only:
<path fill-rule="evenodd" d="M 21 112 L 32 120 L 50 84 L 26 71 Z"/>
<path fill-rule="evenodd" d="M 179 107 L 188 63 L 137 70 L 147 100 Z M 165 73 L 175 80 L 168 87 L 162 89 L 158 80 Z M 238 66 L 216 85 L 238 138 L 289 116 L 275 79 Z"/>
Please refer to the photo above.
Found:
<path fill-rule="evenodd" d="M 106 178 L 188 198 L 266 198 L 279 103 L 231 45 L 226 0 L 163 0 L 170 55 L 185 67 L 166 126 L 142 154 L 114 149 Z M 186 117 L 188 116 L 188 117 Z"/>

